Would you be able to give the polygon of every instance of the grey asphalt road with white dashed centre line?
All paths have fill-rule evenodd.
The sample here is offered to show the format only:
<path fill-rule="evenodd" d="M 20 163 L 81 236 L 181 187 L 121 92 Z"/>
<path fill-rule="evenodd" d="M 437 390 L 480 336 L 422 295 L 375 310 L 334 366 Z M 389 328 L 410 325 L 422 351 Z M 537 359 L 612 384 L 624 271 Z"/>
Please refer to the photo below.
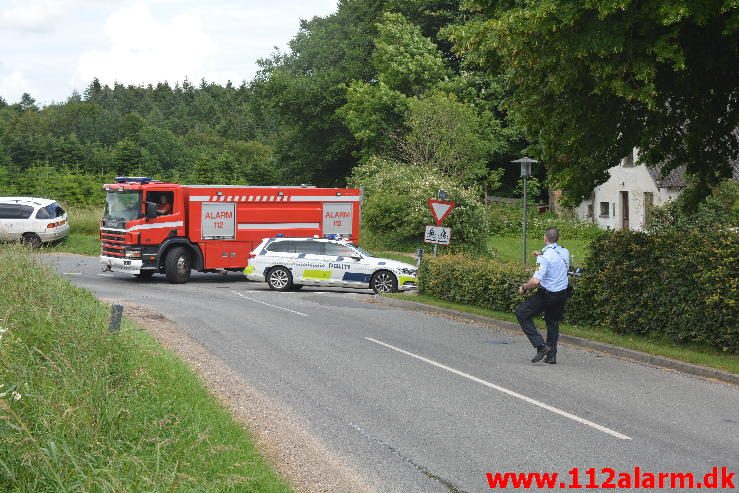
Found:
<path fill-rule="evenodd" d="M 739 389 L 523 335 L 373 303 L 271 292 L 238 274 L 185 285 L 48 259 L 101 298 L 160 312 L 293 409 L 379 491 L 490 491 L 487 472 L 739 472 Z M 735 478 L 739 486 L 739 479 Z M 619 488 L 619 491 L 623 490 Z M 644 490 L 643 490 L 644 491 Z"/>

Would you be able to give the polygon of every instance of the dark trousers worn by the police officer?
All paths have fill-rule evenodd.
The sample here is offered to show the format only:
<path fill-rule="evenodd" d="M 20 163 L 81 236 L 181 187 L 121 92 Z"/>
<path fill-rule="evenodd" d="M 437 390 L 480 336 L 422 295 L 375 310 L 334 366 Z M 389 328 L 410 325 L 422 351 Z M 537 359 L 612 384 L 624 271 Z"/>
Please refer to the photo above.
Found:
<path fill-rule="evenodd" d="M 567 290 L 552 292 L 539 286 L 536 294 L 521 303 L 516 308 L 516 318 L 521 324 L 531 344 L 538 348 L 544 344 L 544 338 L 536 330 L 533 318 L 544 312 L 544 322 L 547 324 L 547 346 L 552 348 L 549 356 L 557 355 L 557 339 L 559 339 L 559 321 L 564 316 Z"/>

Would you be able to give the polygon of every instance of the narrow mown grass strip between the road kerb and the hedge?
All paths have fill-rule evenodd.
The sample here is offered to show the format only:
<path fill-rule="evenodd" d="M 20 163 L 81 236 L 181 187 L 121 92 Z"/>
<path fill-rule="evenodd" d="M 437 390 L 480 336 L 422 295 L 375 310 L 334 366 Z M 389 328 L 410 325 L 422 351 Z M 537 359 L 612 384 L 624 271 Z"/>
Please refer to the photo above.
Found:
<path fill-rule="evenodd" d="M 506 322 L 516 322 L 516 317 L 512 313 L 498 312 L 486 310 L 475 306 L 460 305 L 450 303 L 448 301 L 439 300 L 437 298 L 425 295 L 406 295 L 406 294 L 387 294 L 391 298 L 399 298 L 410 301 L 417 301 L 427 305 L 438 306 L 440 308 L 449 308 L 474 315 L 490 317 L 496 320 L 504 320 Z M 539 324 L 539 328 L 543 327 L 543 320 Z M 546 330 L 546 329 L 544 329 Z M 739 356 L 720 353 L 708 346 L 699 345 L 678 345 L 668 339 L 638 337 L 634 335 L 617 334 L 608 329 L 595 327 L 582 327 L 579 325 L 571 325 L 567 323 L 560 324 L 560 332 L 563 334 L 582 337 L 593 341 L 604 342 L 614 346 L 633 349 L 643 353 L 672 358 L 694 365 L 716 368 L 739 374 Z"/>

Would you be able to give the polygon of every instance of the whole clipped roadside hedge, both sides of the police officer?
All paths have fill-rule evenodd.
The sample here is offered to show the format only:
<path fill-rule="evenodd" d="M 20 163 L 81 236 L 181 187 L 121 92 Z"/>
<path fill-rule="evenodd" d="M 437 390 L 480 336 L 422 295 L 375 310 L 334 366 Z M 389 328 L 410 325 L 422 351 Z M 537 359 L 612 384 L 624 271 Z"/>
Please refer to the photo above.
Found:
<path fill-rule="evenodd" d="M 730 228 L 623 231 L 599 236 L 577 280 L 567 320 L 623 334 L 666 336 L 739 352 L 739 238 Z M 427 257 L 419 292 L 512 312 L 532 267 L 463 255 Z"/>

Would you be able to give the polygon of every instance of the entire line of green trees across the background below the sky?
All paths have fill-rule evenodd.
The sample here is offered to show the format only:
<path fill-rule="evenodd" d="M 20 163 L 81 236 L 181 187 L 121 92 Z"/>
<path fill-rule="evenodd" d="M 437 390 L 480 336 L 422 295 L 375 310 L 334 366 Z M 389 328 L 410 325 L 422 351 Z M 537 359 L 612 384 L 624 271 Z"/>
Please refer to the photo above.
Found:
<path fill-rule="evenodd" d="M 95 79 L 43 108 L 0 98 L 0 187 L 28 193 L 53 173 L 70 190 L 124 174 L 343 185 L 380 158 L 513 193 L 508 163 L 530 154 L 575 202 L 639 147 L 665 173 L 686 165 L 697 202 L 739 155 L 738 11 L 340 0 L 239 86 Z"/>

